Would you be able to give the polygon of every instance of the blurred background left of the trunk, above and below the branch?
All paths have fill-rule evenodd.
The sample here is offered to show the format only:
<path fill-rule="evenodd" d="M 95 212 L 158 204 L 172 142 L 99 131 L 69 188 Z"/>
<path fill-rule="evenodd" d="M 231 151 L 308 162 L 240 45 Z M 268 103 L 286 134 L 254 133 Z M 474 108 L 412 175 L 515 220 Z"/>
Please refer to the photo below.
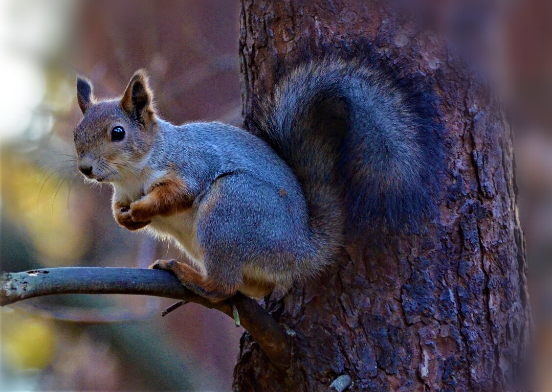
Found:
<path fill-rule="evenodd" d="M 163 118 L 240 125 L 238 34 L 236 2 L 0 1 L 2 270 L 180 257 L 121 229 L 110 187 L 77 174 L 75 74 L 107 97 L 145 67 Z M 3 308 L 0 390 L 230 390 L 242 328 L 193 304 L 162 318 L 173 302 L 64 296 Z"/>

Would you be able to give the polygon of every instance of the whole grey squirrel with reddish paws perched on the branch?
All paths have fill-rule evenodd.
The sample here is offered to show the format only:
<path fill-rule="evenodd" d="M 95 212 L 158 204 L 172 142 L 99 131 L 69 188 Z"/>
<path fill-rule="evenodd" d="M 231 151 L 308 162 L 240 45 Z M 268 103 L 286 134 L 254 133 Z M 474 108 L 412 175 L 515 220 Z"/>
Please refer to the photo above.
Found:
<path fill-rule="evenodd" d="M 192 263 L 150 268 L 212 302 L 286 291 L 351 238 L 436 211 L 442 126 L 436 95 L 415 80 L 327 55 L 256 98 L 244 130 L 163 121 L 145 70 L 109 100 L 78 76 L 78 169 L 113 186 L 120 226 L 172 239 Z"/>

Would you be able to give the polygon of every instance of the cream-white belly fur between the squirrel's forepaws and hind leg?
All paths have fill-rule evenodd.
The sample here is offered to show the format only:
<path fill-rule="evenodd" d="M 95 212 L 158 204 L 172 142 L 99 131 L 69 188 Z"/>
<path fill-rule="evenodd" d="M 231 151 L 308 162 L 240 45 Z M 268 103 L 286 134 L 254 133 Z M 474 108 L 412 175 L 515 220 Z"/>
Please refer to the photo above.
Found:
<path fill-rule="evenodd" d="M 190 261 L 205 274 L 203 252 L 196 236 L 197 209 L 163 217 L 156 216 L 146 226 L 148 231 L 160 239 L 172 240 L 188 256 Z"/>

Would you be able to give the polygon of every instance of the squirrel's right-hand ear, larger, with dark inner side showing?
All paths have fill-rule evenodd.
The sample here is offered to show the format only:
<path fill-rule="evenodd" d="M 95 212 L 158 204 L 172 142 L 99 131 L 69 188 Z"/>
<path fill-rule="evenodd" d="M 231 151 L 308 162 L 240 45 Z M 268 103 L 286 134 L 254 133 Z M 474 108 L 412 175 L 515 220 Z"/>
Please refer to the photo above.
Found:
<path fill-rule="evenodd" d="M 141 123 L 149 121 L 155 112 L 153 111 L 153 93 L 148 85 L 148 77 L 145 70 L 134 72 L 129 85 L 121 98 L 121 107 L 130 116 L 135 116 Z"/>

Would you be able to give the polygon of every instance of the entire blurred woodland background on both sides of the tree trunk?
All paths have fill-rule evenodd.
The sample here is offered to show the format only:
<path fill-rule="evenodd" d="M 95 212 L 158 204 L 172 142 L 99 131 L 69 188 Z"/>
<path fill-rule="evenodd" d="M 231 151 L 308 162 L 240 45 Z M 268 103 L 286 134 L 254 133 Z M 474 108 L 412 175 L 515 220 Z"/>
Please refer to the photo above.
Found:
<path fill-rule="evenodd" d="M 515 135 L 535 321 L 552 390 L 552 2 L 417 3 L 500 93 Z M 238 2 L 0 1 L 2 270 L 147 266 L 171 245 L 121 229 L 109 187 L 71 160 L 75 74 L 97 96 L 145 67 L 168 121 L 241 124 Z M 47 297 L 0 310 L 0 390 L 230 390 L 242 333 L 216 311 L 124 296 Z M 102 323 L 100 323 L 102 322 Z"/>

